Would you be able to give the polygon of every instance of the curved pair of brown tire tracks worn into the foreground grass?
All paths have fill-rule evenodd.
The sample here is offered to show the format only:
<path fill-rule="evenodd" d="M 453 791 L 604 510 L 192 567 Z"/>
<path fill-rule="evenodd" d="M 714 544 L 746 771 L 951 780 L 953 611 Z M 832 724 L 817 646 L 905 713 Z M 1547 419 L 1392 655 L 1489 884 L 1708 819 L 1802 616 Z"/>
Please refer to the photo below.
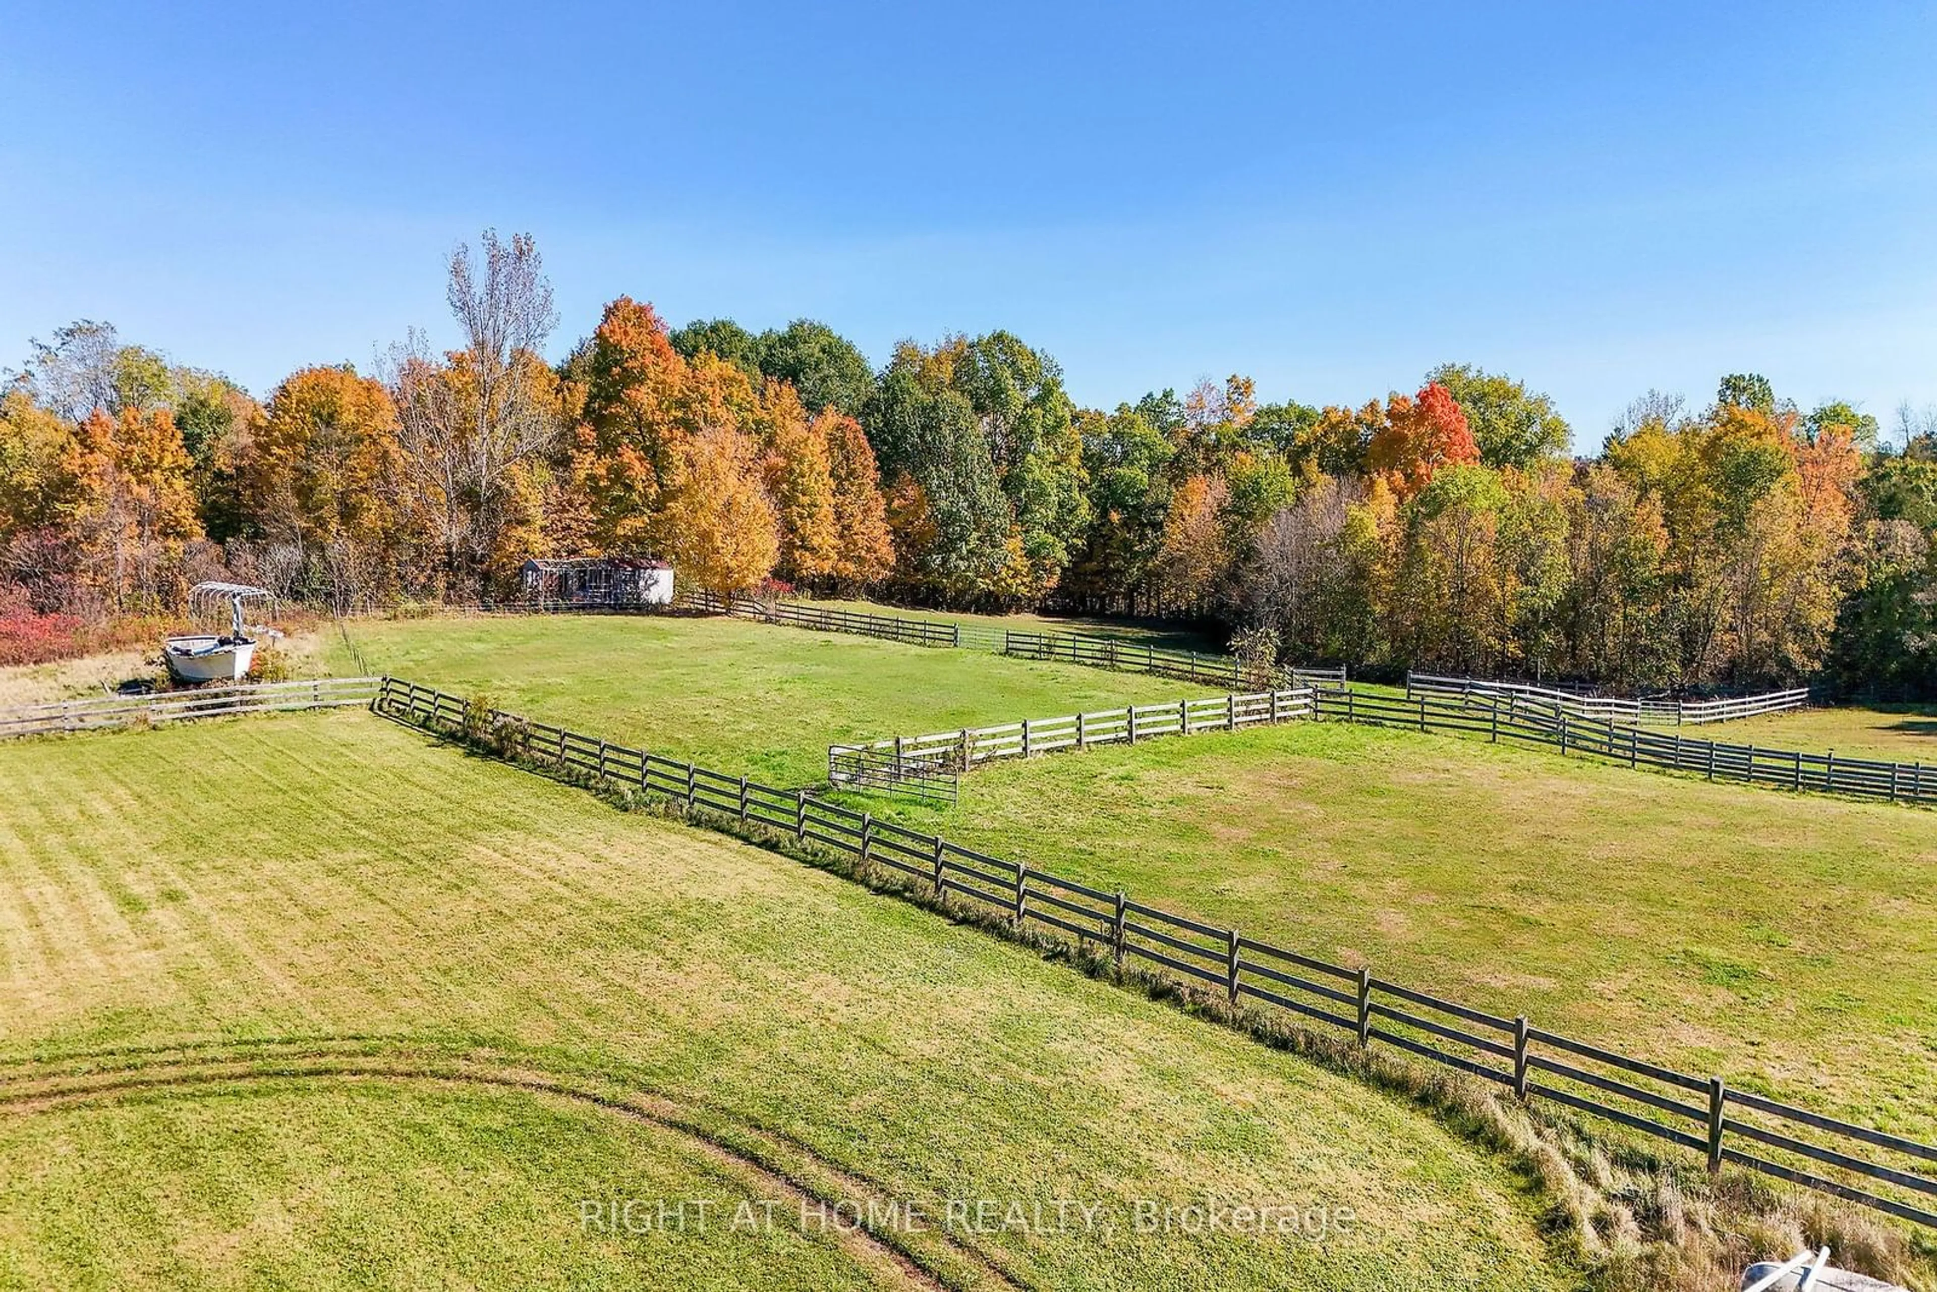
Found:
<path fill-rule="evenodd" d="M 223 1087 L 260 1081 L 391 1081 L 422 1087 L 492 1087 L 544 1094 L 589 1104 L 633 1122 L 643 1122 L 690 1141 L 717 1166 L 740 1180 L 757 1180 L 790 1207 L 806 1209 L 819 1203 L 860 1201 L 877 1203 L 887 1215 L 889 1199 L 864 1178 L 854 1176 L 817 1156 L 800 1141 L 755 1125 L 736 1125 L 732 1135 L 721 1135 L 688 1116 L 680 1104 L 653 1091 L 599 1081 L 579 1073 L 546 1071 L 523 1056 L 509 1058 L 484 1050 L 461 1056 L 440 1054 L 424 1046 L 389 1044 L 376 1038 L 302 1038 L 263 1042 L 182 1042 L 174 1048 L 120 1048 L 76 1052 L 54 1060 L 8 1060 L 0 1075 L 0 1116 L 33 1116 L 97 1102 L 136 1100 L 141 1096 L 196 1096 Z M 600 1089 L 604 1087 L 604 1089 Z M 748 1145 L 730 1143 L 752 1141 Z M 806 1158 L 819 1180 L 804 1180 L 798 1166 L 781 1166 L 777 1158 Z M 808 1226 L 800 1226 L 808 1234 Z M 930 1242 L 908 1242 L 907 1234 L 877 1232 L 868 1224 L 831 1230 L 835 1244 L 862 1269 L 887 1275 L 901 1286 L 943 1292 L 953 1288 L 1023 1288 L 988 1255 L 963 1244 L 941 1226 L 922 1230 Z M 939 1259 L 938 1259 L 939 1257 Z M 953 1267 L 953 1269 L 951 1269 Z"/>

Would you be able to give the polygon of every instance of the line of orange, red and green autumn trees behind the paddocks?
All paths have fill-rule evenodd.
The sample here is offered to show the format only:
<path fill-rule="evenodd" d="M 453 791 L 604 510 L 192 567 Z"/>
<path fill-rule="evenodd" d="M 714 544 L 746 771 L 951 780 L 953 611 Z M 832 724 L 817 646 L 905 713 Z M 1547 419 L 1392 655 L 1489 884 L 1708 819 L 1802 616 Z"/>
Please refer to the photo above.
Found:
<path fill-rule="evenodd" d="M 79 322 L 0 395 L 0 610 L 169 612 L 234 577 L 337 612 L 513 597 L 527 556 L 662 556 L 957 608 L 1195 616 L 1286 661 L 1631 688 L 1937 693 L 1937 416 L 1892 434 L 1753 374 L 1648 393 L 1594 457 L 1447 364 L 1360 407 L 1247 378 L 1083 409 L 1005 331 L 876 370 L 817 322 L 620 296 L 562 362 L 529 236 L 413 333 L 265 399 Z"/>

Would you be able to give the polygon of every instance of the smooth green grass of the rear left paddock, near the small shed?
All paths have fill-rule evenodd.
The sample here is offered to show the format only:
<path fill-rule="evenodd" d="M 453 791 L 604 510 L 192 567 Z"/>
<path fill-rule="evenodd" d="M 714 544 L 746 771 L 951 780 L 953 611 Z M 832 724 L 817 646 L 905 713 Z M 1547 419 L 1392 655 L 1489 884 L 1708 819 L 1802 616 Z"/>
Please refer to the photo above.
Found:
<path fill-rule="evenodd" d="M 1187 682 L 726 618 L 364 622 L 362 666 L 771 784 L 827 746 L 1205 693 Z M 358 672 L 339 643 L 335 672 Z"/>

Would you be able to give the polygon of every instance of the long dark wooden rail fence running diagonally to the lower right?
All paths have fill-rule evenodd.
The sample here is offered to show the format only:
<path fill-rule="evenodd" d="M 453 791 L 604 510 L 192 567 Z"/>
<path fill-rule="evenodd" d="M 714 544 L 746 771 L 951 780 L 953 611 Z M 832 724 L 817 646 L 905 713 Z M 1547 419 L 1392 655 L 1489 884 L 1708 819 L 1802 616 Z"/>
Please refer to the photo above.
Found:
<path fill-rule="evenodd" d="M 1352 1032 L 1364 1046 L 1404 1050 L 1519 1098 L 1550 1100 L 1705 1154 L 1710 1170 L 1732 1162 L 1937 1228 L 1931 1211 L 1937 1207 L 1931 1201 L 1937 1199 L 1937 1147 L 1902 1135 L 1737 1091 L 1722 1077 L 1679 1073 L 1550 1032 L 1524 1015 L 1507 1019 L 1441 1000 L 1379 978 L 1368 967 L 1331 965 L 1131 901 L 1122 891 L 1106 893 L 939 835 L 877 821 L 806 790 L 757 784 L 498 709 L 478 713 L 457 695 L 397 678 L 382 682 L 372 709 L 447 732 L 486 734 L 509 754 L 784 831 L 895 872 L 938 899 L 978 903 L 1019 930 L 1073 939 L 1120 967 L 1137 961 L 1220 994 L 1232 1005 L 1282 1009 L 1300 1021 Z"/>

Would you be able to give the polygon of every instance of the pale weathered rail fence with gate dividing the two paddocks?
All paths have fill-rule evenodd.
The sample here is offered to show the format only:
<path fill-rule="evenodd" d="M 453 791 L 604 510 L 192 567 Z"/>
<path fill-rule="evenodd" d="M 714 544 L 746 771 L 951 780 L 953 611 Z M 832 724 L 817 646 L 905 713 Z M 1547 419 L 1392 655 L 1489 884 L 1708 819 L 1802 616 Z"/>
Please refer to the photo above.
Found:
<path fill-rule="evenodd" d="M 1071 713 L 1052 719 L 1023 719 L 994 726 L 965 726 L 930 736 L 893 736 L 862 746 L 827 748 L 827 783 L 835 788 L 885 788 L 920 796 L 922 779 L 943 771 L 965 773 L 998 757 L 1034 757 L 1058 750 L 1089 750 L 1102 744 L 1137 744 L 1158 736 L 1199 736 L 1230 732 L 1259 723 L 1290 723 L 1311 717 L 1311 688 L 1203 695 L 1158 705 L 1127 705 L 1100 713 Z M 907 769 L 897 777 L 897 769 Z M 870 775 L 872 773 L 872 775 Z M 955 802 L 949 783 L 947 802 Z"/>

